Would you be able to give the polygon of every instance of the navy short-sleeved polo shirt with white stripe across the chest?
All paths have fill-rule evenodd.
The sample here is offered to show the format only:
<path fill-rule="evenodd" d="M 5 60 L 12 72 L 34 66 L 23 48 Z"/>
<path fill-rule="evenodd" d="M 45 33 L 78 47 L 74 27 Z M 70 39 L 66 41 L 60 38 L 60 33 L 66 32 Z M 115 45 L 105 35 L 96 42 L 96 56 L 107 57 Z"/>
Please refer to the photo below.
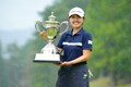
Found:
<path fill-rule="evenodd" d="M 57 47 L 63 49 L 62 61 L 71 61 L 81 57 L 83 50 L 92 50 L 92 36 L 83 28 L 75 35 L 72 35 L 72 30 L 68 30 L 62 34 Z"/>

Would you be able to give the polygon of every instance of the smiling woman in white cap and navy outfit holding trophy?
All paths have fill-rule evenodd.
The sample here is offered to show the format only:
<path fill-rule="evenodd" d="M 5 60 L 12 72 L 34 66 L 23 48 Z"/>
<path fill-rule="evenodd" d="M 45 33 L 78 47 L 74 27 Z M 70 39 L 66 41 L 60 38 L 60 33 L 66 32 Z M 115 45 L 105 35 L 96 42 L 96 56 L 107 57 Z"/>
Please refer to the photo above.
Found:
<path fill-rule="evenodd" d="M 71 30 L 62 34 L 57 47 L 63 51 L 56 87 L 90 87 L 86 61 L 92 51 L 92 36 L 84 30 L 84 11 L 73 8 L 69 12 Z M 43 35 L 43 34 L 40 34 Z"/>

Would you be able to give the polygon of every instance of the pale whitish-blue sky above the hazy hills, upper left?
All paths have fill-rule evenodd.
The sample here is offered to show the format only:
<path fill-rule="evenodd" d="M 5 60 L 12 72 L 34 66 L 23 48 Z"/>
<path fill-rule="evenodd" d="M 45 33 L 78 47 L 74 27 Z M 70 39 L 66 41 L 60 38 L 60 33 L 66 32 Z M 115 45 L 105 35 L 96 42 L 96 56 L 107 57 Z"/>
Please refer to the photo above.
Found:
<path fill-rule="evenodd" d="M 32 28 L 39 17 L 38 12 L 55 0 L 0 0 L 0 30 Z"/>

